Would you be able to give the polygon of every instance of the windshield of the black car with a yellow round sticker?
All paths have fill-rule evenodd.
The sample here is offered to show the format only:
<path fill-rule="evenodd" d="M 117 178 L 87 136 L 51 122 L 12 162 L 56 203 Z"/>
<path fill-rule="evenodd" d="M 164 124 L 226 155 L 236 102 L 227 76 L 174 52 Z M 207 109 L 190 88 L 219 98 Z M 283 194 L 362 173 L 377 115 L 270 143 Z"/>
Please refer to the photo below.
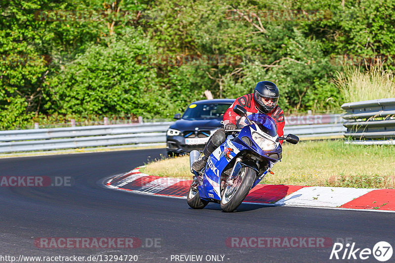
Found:
<path fill-rule="evenodd" d="M 207 120 L 207 119 L 222 119 L 225 111 L 232 105 L 232 103 L 204 103 L 189 105 L 184 112 L 182 119 L 184 120 Z"/>

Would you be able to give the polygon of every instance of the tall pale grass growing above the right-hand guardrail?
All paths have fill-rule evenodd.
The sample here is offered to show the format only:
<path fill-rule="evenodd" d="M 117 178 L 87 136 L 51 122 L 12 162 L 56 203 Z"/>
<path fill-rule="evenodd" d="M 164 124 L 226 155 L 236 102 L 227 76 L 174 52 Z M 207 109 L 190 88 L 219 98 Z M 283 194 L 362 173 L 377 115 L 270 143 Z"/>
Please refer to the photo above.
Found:
<path fill-rule="evenodd" d="M 345 102 L 395 98 L 394 71 L 380 65 L 366 71 L 345 67 L 343 72 L 337 72 L 335 83 Z"/>

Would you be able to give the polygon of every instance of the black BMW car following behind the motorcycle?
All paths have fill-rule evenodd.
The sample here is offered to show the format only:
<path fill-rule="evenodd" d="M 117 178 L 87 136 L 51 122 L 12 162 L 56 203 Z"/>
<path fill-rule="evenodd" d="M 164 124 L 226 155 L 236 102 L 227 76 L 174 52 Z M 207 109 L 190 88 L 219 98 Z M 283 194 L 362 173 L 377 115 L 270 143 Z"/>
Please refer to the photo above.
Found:
<path fill-rule="evenodd" d="M 166 134 L 166 150 L 169 156 L 203 151 L 208 138 L 219 128 L 225 111 L 235 99 L 205 99 L 191 103 L 181 117 L 170 126 Z"/>

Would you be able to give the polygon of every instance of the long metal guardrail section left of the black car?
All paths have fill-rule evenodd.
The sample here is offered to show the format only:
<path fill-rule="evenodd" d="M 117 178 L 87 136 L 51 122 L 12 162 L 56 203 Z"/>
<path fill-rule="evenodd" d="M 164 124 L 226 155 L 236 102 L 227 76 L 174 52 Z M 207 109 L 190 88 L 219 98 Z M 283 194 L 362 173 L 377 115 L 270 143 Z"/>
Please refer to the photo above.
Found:
<path fill-rule="evenodd" d="M 172 123 L 1 131 L 0 153 L 165 142 Z"/>

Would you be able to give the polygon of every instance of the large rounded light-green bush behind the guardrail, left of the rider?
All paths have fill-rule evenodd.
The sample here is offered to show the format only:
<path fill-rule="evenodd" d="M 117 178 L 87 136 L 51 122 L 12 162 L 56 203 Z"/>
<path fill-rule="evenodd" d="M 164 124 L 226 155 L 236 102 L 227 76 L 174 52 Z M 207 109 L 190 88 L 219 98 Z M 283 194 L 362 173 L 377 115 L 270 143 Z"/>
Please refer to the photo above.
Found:
<path fill-rule="evenodd" d="M 141 63 L 154 47 L 128 31 L 109 47 L 92 45 L 48 80 L 46 107 L 62 114 L 161 114 L 168 100 L 159 92 L 156 70 Z"/>

